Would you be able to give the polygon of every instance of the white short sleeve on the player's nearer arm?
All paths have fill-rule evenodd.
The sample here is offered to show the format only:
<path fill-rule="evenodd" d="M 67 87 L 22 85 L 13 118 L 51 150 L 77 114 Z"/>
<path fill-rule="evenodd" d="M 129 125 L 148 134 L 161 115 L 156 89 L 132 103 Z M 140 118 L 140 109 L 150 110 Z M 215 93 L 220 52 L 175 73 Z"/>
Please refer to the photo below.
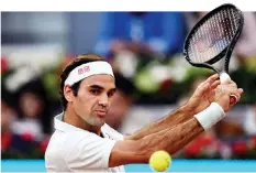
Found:
<path fill-rule="evenodd" d="M 109 167 L 110 153 L 116 141 L 96 134 L 82 138 L 67 155 L 70 171 L 102 170 Z"/>

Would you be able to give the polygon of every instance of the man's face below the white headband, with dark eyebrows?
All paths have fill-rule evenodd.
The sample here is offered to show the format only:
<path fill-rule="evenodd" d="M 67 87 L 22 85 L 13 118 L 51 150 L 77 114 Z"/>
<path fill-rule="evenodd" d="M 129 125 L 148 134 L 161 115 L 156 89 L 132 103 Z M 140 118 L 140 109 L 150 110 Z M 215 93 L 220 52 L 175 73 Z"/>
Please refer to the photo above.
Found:
<path fill-rule="evenodd" d="M 114 93 L 114 78 L 111 75 L 93 75 L 81 82 L 71 104 L 76 113 L 87 123 L 101 127 Z"/>

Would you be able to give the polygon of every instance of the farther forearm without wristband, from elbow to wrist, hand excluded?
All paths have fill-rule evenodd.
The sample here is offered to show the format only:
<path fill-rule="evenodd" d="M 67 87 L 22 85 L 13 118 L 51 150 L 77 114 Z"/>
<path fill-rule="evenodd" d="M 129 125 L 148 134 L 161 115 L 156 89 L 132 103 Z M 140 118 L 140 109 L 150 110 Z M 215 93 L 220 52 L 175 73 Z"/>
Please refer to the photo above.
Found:
<path fill-rule="evenodd" d="M 126 137 L 130 140 L 138 140 L 148 134 L 162 131 L 164 129 L 169 129 L 178 123 L 182 123 L 189 120 L 192 117 L 192 112 L 187 108 L 187 106 L 182 106 L 179 109 L 170 112 L 163 119 L 153 122 L 145 128 L 141 129 L 140 131 L 134 132 L 132 136 Z"/>

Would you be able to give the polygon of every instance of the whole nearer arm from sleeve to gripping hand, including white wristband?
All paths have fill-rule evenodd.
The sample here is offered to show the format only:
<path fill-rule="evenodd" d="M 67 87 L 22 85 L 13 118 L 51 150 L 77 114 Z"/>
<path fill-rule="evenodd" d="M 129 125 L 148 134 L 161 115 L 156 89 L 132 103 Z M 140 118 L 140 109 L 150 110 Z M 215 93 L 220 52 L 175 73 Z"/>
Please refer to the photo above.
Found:
<path fill-rule="evenodd" d="M 236 95 L 240 100 L 240 97 L 243 93 L 243 89 L 237 89 L 237 87 L 233 84 L 230 84 L 229 86 L 229 88 L 224 88 L 219 91 L 219 96 L 215 100 L 225 112 L 229 111 L 230 108 L 233 106 L 230 105 L 230 95 Z M 212 107 L 210 106 L 209 108 Z M 144 136 L 137 140 L 118 141 L 111 151 L 109 166 L 112 167 L 131 163 L 147 163 L 153 152 L 157 150 L 166 150 L 170 154 L 177 152 L 187 143 L 189 143 L 192 139 L 204 131 L 201 125 L 203 125 L 205 129 L 209 129 L 214 126 L 220 120 L 220 118 L 223 118 L 222 115 L 215 115 L 220 109 L 216 110 L 214 108 L 207 110 L 210 111 L 207 111 L 207 113 L 205 111 L 203 111 L 204 113 L 199 113 L 200 118 L 199 116 L 197 118 L 199 118 L 200 120 L 192 117 L 185 122 L 168 127 L 156 132 L 153 132 L 149 129 L 152 133 Z M 208 121 L 209 117 L 211 119 L 210 123 Z M 163 125 L 165 123 L 163 122 Z"/>

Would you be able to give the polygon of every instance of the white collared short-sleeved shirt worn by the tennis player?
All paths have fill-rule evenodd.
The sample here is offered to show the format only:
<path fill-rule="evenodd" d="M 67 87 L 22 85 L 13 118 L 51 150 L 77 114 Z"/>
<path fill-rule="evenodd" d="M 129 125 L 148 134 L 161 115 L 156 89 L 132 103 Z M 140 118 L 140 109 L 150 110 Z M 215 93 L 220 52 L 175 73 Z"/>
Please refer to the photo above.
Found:
<path fill-rule="evenodd" d="M 63 113 L 54 119 L 56 130 L 45 152 L 47 172 L 125 172 L 123 166 L 109 169 L 111 150 L 123 140 L 121 133 L 105 123 L 101 138 L 62 120 Z"/>

